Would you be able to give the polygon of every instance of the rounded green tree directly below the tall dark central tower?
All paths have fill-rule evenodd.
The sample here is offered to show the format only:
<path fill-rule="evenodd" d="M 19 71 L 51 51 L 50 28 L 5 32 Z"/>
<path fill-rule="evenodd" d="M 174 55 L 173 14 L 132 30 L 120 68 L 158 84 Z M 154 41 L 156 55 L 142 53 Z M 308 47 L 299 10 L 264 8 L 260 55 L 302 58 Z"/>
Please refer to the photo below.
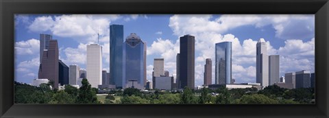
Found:
<path fill-rule="evenodd" d="M 181 104 L 196 104 L 197 99 L 195 99 L 192 89 L 187 86 L 184 87 L 183 93 L 181 94 Z"/>

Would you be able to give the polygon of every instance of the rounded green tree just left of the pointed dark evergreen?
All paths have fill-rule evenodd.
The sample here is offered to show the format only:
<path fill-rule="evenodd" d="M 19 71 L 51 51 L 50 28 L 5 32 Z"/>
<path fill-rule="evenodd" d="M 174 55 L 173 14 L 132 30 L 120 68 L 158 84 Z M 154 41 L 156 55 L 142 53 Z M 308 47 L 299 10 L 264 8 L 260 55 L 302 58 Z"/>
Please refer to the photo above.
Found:
<path fill-rule="evenodd" d="M 51 102 L 49 104 L 74 104 L 75 97 L 69 95 L 65 91 L 59 91 L 58 93 L 53 95 Z"/>

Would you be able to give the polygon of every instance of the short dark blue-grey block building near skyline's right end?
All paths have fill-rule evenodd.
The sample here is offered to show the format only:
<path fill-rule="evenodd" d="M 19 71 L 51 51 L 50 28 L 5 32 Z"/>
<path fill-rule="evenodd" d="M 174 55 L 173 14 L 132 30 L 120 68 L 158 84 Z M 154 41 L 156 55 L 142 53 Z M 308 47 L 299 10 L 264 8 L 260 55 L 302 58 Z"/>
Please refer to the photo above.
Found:
<path fill-rule="evenodd" d="M 296 88 L 309 88 L 310 87 L 310 71 L 297 71 L 296 72 Z"/>

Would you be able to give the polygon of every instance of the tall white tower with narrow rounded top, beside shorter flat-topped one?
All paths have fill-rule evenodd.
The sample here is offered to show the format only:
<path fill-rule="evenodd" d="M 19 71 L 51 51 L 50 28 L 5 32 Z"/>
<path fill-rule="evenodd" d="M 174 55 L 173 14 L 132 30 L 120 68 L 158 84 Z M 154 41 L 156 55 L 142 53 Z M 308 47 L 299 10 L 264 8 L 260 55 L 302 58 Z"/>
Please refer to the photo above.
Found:
<path fill-rule="evenodd" d="M 256 44 L 256 83 L 269 86 L 269 56 L 264 38 L 260 38 Z"/>

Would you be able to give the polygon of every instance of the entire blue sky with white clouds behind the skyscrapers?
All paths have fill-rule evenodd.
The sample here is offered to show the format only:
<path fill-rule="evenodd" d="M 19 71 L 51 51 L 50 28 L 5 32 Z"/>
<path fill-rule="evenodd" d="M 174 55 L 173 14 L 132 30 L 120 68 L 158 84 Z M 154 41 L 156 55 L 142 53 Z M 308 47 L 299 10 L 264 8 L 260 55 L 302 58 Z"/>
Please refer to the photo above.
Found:
<path fill-rule="evenodd" d="M 38 78 L 40 34 L 58 40 L 59 58 L 86 69 L 86 45 L 103 47 L 103 70 L 110 70 L 110 30 L 123 25 L 124 38 L 136 33 L 147 43 L 147 80 L 154 58 L 164 58 L 164 70 L 176 75 L 180 36 L 195 36 L 195 86 L 204 83 L 206 58 L 212 59 L 215 83 L 215 43 L 232 42 L 232 79 L 256 82 L 256 43 L 264 38 L 269 55 L 280 55 L 284 73 L 315 71 L 314 14 L 15 14 L 15 75 L 17 82 Z M 125 40 L 125 39 L 124 39 Z M 87 70 L 88 71 L 88 70 Z"/>

